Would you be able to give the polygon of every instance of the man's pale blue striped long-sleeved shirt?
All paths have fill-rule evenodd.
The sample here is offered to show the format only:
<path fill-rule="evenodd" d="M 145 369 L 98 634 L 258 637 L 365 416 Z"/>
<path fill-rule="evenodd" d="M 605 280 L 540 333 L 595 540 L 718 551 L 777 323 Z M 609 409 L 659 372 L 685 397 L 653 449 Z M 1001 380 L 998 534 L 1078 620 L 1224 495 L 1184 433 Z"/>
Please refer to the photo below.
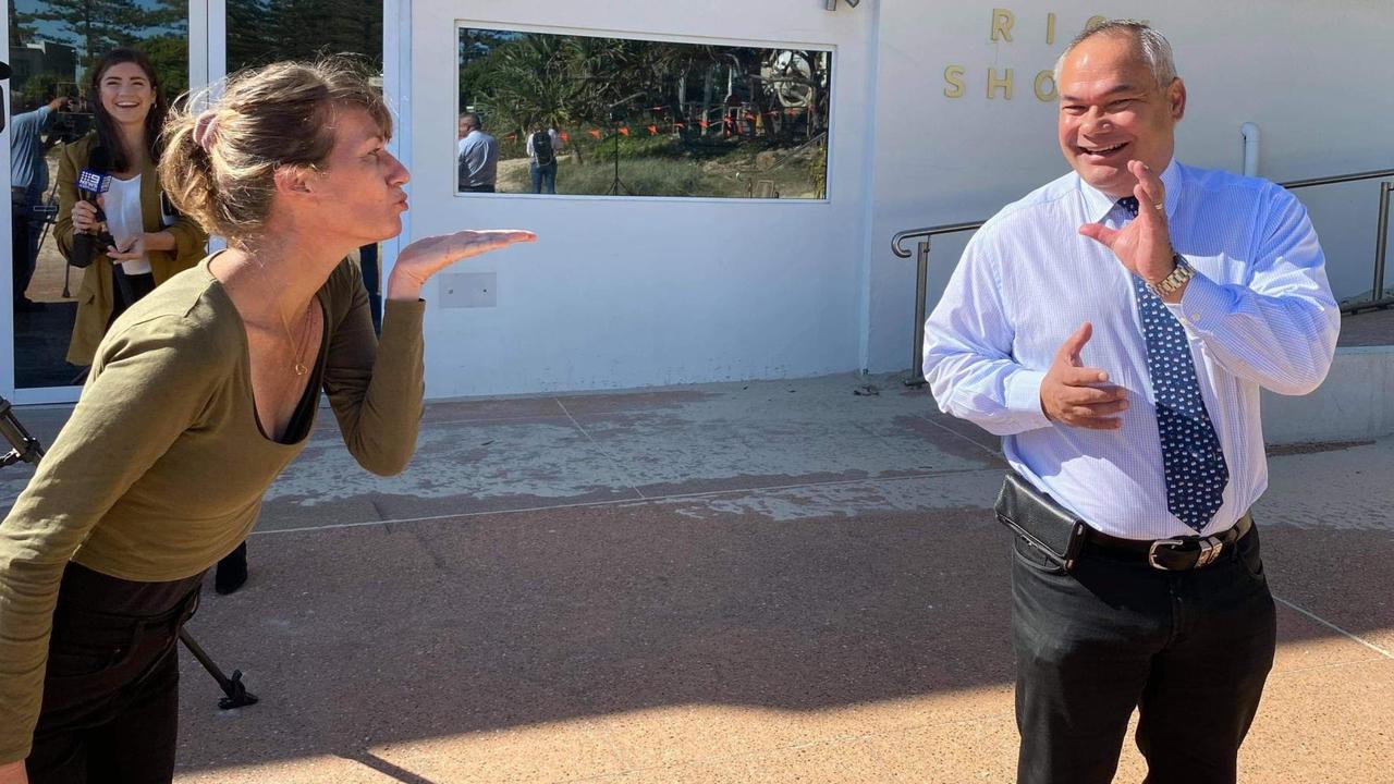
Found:
<path fill-rule="evenodd" d="M 1331 365 L 1340 314 L 1306 209 L 1253 177 L 1172 162 L 1161 174 L 1177 252 L 1196 268 L 1168 304 L 1230 466 L 1224 505 L 1202 533 L 1231 527 L 1269 469 L 1259 391 L 1305 395 Z M 1002 435 L 1012 467 L 1096 529 L 1125 538 L 1193 536 L 1167 511 L 1147 346 L 1131 273 L 1079 226 L 1124 225 L 1114 199 L 1069 173 L 1008 205 L 973 237 L 926 322 L 924 375 L 940 407 Z M 1086 367 L 1128 389 L 1119 430 L 1055 424 L 1040 385 L 1085 321 Z"/>

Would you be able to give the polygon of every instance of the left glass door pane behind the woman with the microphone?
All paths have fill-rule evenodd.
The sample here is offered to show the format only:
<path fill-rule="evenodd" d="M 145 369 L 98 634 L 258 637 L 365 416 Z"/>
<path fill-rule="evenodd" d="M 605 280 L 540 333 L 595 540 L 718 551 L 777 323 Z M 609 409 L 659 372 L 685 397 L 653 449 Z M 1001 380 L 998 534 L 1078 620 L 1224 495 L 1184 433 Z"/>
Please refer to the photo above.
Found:
<path fill-rule="evenodd" d="M 54 229 L 59 162 L 93 133 L 99 96 L 88 71 L 112 49 L 137 49 L 173 99 L 206 81 L 199 31 L 208 11 L 202 0 L 8 0 L 0 14 L 8 29 L 3 59 L 13 71 L 0 134 L 10 149 L 0 165 L 10 186 L 10 211 L 0 216 L 10 247 L 0 272 L 0 388 L 17 403 L 74 400 L 86 367 L 70 361 L 70 343 L 78 310 L 89 307 L 84 279 L 95 265 L 70 265 Z"/>

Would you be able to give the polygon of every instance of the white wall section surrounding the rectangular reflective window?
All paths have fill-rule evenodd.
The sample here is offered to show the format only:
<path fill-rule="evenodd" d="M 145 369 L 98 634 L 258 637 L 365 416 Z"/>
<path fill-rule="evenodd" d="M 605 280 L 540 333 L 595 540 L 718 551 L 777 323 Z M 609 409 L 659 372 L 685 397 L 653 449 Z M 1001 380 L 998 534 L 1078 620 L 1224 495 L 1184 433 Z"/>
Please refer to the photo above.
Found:
<path fill-rule="evenodd" d="M 859 365 L 874 14 L 821 0 L 608 4 L 413 0 L 414 237 L 526 227 L 470 261 L 498 306 L 428 292 L 429 396 L 804 377 Z M 456 21 L 630 38 L 834 47 L 827 202 L 454 195 Z M 446 279 L 447 280 L 447 279 Z"/>

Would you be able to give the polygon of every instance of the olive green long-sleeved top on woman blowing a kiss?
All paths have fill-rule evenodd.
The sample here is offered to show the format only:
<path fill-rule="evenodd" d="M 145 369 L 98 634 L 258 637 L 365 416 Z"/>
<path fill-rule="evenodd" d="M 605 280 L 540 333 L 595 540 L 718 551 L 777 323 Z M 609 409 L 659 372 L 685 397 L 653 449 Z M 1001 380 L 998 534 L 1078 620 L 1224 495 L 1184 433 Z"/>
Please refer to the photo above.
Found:
<path fill-rule="evenodd" d="M 399 473 L 421 423 L 425 306 L 389 301 L 379 346 L 353 262 L 318 300 L 314 393 L 329 395 L 358 463 Z M 247 537 L 308 428 L 298 437 L 262 432 L 245 326 L 208 259 L 117 319 L 67 425 L 0 523 L 0 763 L 29 753 L 67 562 L 146 582 L 208 569 Z"/>

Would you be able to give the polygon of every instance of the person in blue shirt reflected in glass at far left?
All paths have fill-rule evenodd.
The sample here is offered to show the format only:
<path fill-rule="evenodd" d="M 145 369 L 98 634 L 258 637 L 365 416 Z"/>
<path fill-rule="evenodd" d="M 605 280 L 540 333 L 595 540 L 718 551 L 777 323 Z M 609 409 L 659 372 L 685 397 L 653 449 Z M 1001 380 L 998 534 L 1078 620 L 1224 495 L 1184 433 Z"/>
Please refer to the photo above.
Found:
<path fill-rule="evenodd" d="M 33 310 L 25 296 L 35 259 L 39 258 L 39 232 L 43 227 L 40 211 L 43 194 L 49 190 L 49 148 L 59 141 L 54 127 L 59 112 L 68 107 L 68 98 L 54 95 L 50 86 L 43 103 L 10 119 L 10 261 L 14 268 L 14 310 Z M 47 137 L 43 134 L 47 133 Z"/>

